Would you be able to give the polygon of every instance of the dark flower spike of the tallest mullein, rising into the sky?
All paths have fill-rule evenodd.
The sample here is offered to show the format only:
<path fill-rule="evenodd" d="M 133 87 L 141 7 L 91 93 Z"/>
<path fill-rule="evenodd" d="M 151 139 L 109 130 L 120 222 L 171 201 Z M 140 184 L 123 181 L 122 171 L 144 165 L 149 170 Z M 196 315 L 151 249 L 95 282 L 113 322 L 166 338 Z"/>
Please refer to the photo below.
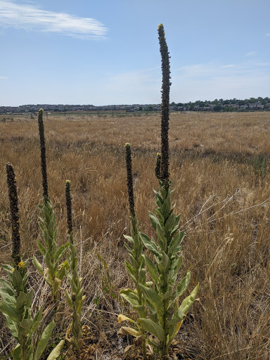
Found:
<path fill-rule="evenodd" d="M 158 40 L 162 62 L 162 104 L 161 104 L 161 169 L 160 180 L 167 184 L 169 181 L 169 51 L 162 24 L 158 25 Z"/>

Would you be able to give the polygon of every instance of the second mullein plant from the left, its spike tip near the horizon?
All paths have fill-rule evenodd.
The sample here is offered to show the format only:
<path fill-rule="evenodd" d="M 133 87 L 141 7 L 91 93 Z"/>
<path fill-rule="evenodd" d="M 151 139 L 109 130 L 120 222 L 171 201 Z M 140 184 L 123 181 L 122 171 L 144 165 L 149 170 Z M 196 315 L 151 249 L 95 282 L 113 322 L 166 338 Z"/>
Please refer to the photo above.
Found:
<path fill-rule="evenodd" d="M 46 283 L 51 288 L 54 302 L 57 302 L 59 296 L 60 285 L 65 276 L 65 269 L 68 268 L 68 262 L 60 264 L 60 259 L 68 249 L 68 243 L 60 246 L 56 243 L 58 229 L 56 226 L 56 213 L 53 211 L 53 205 L 50 203 L 47 169 L 46 169 L 46 146 L 44 136 L 44 110 L 39 110 L 39 139 L 40 139 L 40 154 L 41 154 L 41 174 L 43 187 L 43 203 L 39 205 L 41 216 L 39 217 L 39 227 L 41 229 L 44 244 L 37 240 L 37 245 L 41 254 L 44 256 L 44 266 L 42 266 L 37 258 L 33 257 L 33 264 L 44 276 Z"/>

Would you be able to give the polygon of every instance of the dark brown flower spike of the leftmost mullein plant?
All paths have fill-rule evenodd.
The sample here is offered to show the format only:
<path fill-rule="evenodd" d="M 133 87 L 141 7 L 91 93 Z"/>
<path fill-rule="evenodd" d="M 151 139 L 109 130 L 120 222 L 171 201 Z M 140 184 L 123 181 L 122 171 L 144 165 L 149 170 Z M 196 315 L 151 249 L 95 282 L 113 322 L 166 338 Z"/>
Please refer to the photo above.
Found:
<path fill-rule="evenodd" d="M 15 264 L 18 266 L 20 260 L 20 220 L 18 209 L 18 195 L 16 178 L 13 166 L 8 162 L 6 164 L 6 175 L 8 183 L 8 198 L 11 207 L 11 226 L 12 226 L 12 254 Z"/>

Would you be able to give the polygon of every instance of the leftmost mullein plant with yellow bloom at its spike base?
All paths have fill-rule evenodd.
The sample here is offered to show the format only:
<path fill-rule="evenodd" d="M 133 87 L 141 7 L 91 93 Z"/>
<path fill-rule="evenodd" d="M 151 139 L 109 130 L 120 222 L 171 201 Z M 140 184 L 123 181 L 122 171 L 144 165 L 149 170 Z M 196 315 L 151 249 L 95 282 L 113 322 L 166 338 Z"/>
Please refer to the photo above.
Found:
<path fill-rule="evenodd" d="M 8 197 L 11 208 L 12 226 L 12 262 L 2 265 L 8 274 L 9 281 L 0 278 L 0 311 L 6 317 L 6 324 L 11 330 L 17 345 L 13 349 L 14 360 L 38 360 L 48 344 L 55 324 L 53 321 L 46 326 L 37 346 L 33 347 L 33 334 L 36 332 L 42 319 L 42 307 L 32 317 L 33 290 L 27 290 L 28 274 L 27 262 L 21 260 L 20 255 L 20 218 L 18 210 L 18 196 L 15 173 L 13 166 L 6 164 L 8 183 Z M 53 349 L 49 355 L 50 360 L 55 360 L 64 345 L 64 341 Z"/>

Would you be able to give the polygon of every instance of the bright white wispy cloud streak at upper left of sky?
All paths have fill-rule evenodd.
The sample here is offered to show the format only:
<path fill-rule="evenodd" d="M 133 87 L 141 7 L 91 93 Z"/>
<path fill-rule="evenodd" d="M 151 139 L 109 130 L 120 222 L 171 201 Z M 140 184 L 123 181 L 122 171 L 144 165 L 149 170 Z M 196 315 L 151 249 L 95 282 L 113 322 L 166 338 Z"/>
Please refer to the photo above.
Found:
<path fill-rule="evenodd" d="M 70 37 L 105 38 L 107 28 L 92 18 L 43 10 L 30 4 L 0 0 L 0 26 L 40 32 L 58 32 Z"/>

